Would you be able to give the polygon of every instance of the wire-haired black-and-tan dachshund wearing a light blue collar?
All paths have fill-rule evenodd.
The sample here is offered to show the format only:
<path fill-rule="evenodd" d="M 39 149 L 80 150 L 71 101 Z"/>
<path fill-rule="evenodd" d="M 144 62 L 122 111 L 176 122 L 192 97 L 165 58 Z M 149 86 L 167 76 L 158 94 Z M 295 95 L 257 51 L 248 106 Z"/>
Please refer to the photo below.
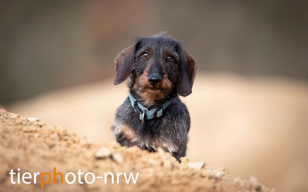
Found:
<path fill-rule="evenodd" d="M 180 41 L 161 32 L 138 37 L 115 58 L 114 84 L 128 77 L 129 96 L 115 112 L 111 130 L 122 146 L 162 147 L 185 157 L 190 117 L 180 96 L 192 93 L 198 63 Z"/>

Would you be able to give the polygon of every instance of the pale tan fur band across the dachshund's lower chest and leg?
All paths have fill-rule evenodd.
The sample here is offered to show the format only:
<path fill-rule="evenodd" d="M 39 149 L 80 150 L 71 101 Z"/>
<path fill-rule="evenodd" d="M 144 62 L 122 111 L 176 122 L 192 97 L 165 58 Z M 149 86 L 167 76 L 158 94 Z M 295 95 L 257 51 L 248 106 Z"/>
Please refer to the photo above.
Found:
<path fill-rule="evenodd" d="M 158 147 L 162 147 L 166 151 L 176 152 L 178 147 L 166 138 L 158 137 L 141 137 L 132 128 L 127 125 L 115 124 L 114 135 L 123 134 L 123 137 L 128 140 L 131 146 L 137 145 L 141 149 L 147 149 L 149 151 L 157 151 Z"/>

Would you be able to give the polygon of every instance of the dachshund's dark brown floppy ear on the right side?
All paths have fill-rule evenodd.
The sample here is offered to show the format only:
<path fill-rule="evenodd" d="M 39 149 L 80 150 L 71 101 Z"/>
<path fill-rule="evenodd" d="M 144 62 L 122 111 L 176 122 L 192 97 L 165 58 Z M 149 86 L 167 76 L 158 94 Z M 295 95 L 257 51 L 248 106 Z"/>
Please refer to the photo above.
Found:
<path fill-rule="evenodd" d="M 193 82 L 199 69 L 199 65 L 185 50 L 181 54 L 180 80 L 176 83 L 177 93 L 180 96 L 188 96 L 192 93 Z"/>

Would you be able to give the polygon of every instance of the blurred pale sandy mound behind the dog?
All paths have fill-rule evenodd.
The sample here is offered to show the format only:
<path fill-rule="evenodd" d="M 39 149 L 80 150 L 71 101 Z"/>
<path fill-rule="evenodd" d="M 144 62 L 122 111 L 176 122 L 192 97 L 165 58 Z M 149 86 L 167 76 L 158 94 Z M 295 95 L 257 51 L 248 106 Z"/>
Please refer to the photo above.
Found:
<path fill-rule="evenodd" d="M 114 78 L 46 92 L 4 106 L 64 125 L 93 142 L 112 142 L 116 108 L 128 96 Z M 191 116 L 187 156 L 281 192 L 308 188 L 308 83 L 282 77 L 202 72 L 181 98 Z"/>

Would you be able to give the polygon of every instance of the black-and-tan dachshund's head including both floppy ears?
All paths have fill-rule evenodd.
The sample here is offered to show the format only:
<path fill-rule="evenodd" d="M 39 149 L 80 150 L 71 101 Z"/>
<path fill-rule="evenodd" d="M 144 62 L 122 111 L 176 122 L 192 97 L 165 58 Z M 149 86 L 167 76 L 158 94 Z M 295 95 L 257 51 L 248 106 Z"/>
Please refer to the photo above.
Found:
<path fill-rule="evenodd" d="M 139 37 L 115 58 L 115 81 L 118 85 L 131 74 L 134 88 L 145 100 L 163 99 L 173 89 L 181 96 L 192 93 L 199 65 L 182 44 L 160 33 Z M 149 99 L 152 98 L 152 99 Z"/>

